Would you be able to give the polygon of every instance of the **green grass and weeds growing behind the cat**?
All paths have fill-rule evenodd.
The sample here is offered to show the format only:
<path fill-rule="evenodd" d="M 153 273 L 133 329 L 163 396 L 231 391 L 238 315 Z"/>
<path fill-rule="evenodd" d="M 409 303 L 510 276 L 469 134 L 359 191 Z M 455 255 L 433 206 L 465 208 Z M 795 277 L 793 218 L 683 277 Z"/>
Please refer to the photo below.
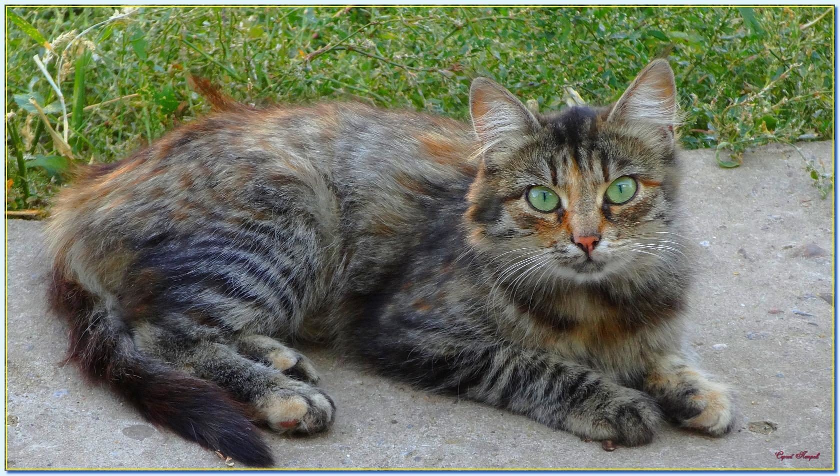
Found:
<path fill-rule="evenodd" d="M 139 8 L 67 47 L 113 13 L 7 8 L 9 210 L 45 207 L 71 163 L 116 160 L 207 112 L 189 73 L 244 102 L 356 97 L 465 119 L 475 76 L 550 109 L 567 87 L 614 101 L 666 57 L 689 117 L 684 146 L 719 148 L 722 166 L 756 145 L 833 137 L 829 7 Z M 44 40 L 63 51 L 60 75 L 55 57 L 45 70 L 71 112 L 66 143 L 60 101 L 33 60 Z M 830 190 L 819 165 L 807 172 Z"/>

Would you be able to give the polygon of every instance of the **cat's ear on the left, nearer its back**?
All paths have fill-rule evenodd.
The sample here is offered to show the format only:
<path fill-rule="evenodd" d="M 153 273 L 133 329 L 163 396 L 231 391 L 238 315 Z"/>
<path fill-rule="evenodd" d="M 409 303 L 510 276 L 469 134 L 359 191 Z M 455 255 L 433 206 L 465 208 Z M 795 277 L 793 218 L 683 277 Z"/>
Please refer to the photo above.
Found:
<path fill-rule="evenodd" d="M 486 155 L 517 149 L 539 128 L 537 119 L 522 102 L 487 78 L 475 78 L 470 86 L 470 116 L 481 152 Z"/>

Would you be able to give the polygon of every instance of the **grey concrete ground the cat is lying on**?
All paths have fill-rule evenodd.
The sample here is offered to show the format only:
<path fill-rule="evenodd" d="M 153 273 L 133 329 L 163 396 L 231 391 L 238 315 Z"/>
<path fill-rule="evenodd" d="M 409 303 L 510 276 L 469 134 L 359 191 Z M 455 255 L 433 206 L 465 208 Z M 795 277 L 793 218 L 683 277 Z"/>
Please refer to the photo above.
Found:
<path fill-rule="evenodd" d="M 832 144 L 801 144 L 832 166 Z M 505 411 L 428 395 L 310 353 L 339 414 L 318 437 L 265 434 L 286 468 L 832 468 L 832 201 L 799 154 L 773 145 L 723 170 L 710 150 L 685 164 L 696 245 L 690 346 L 739 391 L 738 430 L 714 439 L 665 427 L 652 444 L 597 442 Z M 45 308 L 42 224 L 10 220 L 7 468 L 227 468 L 213 452 L 145 423 L 61 366 L 65 327 Z M 777 458 L 816 455 L 819 458 Z M 240 467 L 236 464 L 236 467 Z"/>

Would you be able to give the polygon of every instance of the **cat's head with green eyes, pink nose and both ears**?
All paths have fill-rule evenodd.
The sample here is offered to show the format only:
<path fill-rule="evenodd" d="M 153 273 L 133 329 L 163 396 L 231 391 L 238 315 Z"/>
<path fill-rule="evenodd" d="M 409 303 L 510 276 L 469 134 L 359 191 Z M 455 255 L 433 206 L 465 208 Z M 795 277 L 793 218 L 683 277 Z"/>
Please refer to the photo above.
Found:
<path fill-rule="evenodd" d="M 481 166 L 470 241 L 507 278 L 628 278 L 680 259 L 674 73 L 654 60 L 611 107 L 540 115 L 485 78 L 470 112 Z"/>

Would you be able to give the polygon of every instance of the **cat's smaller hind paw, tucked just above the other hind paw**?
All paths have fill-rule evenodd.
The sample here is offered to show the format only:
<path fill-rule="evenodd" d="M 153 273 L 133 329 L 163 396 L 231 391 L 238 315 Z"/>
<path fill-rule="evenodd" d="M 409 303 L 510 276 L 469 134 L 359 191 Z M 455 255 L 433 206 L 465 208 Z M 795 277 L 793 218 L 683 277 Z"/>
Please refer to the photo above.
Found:
<path fill-rule="evenodd" d="M 318 384 L 321 377 L 312 361 L 293 348 L 286 347 L 276 339 L 260 334 L 236 337 L 234 345 L 239 353 L 257 361 L 270 364 L 292 378 L 311 384 Z"/>

